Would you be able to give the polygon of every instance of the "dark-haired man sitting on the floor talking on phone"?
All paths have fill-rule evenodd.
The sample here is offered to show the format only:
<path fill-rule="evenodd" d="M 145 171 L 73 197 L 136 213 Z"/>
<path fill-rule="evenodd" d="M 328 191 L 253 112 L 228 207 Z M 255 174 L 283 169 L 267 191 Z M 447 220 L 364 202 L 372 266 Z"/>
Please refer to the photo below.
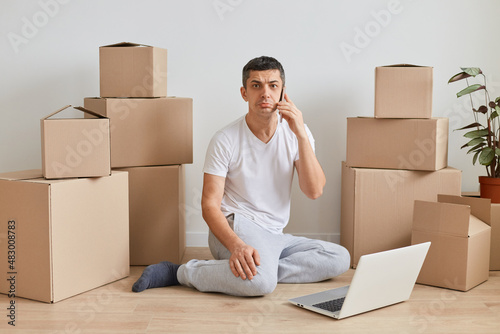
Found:
<path fill-rule="evenodd" d="M 321 196 L 326 182 L 313 136 L 284 87 L 285 73 L 276 59 L 248 62 L 240 89 L 248 113 L 218 131 L 208 146 L 202 212 L 216 260 L 149 266 L 133 291 L 182 284 L 260 296 L 277 283 L 317 282 L 349 268 L 342 246 L 282 232 L 290 216 L 294 169 L 311 199 Z"/>

